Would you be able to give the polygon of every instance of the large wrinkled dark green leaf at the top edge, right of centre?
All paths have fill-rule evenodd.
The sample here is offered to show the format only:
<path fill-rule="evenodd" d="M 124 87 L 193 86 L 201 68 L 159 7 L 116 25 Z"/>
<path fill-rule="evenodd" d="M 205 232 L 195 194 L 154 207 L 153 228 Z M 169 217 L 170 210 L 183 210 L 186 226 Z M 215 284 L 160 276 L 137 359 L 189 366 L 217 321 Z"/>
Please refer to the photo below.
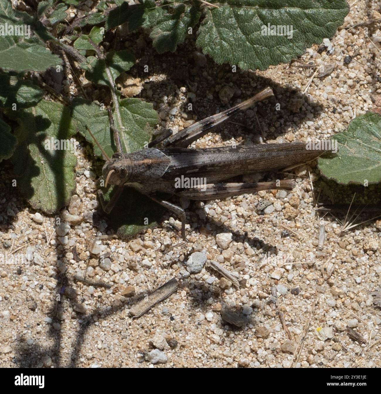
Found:
<path fill-rule="evenodd" d="M 265 70 L 332 37 L 344 22 L 345 0 L 221 0 L 204 8 L 196 45 L 217 63 Z M 268 25 L 269 24 L 269 25 Z M 287 35 L 262 35 L 268 26 L 292 26 Z M 291 34 L 289 34 L 291 37 Z"/>

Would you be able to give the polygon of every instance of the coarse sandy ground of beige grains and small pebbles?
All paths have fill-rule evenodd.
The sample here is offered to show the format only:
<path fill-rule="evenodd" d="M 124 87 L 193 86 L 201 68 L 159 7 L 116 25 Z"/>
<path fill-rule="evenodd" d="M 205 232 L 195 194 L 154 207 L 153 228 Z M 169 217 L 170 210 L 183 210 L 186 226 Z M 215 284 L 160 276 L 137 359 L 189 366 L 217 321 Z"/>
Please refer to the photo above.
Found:
<path fill-rule="evenodd" d="M 230 66 L 194 55 L 187 45 L 180 47 L 181 56 L 158 55 L 140 32 L 125 44 L 139 64 L 149 62 L 152 70 L 144 74 L 138 65 L 130 71 L 143 86 L 137 97 L 154 104 L 162 119 L 159 128 L 177 131 L 196 119 L 186 113 L 189 93 L 205 117 L 271 86 L 273 99 L 234 119 L 253 130 L 229 124 L 193 145 L 250 145 L 262 136 L 268 142 L 331 138 L 353 117 L 370 110 L 372 98 L 380 93 L 380 21 L 362 24 L 381 18 L 380 6 L 376 1 L 355 2 L 332 40 L 330 56 L 326 49 L 318 53 L 315 45 L 290 64 L 266 72 L 232 73 Z M 353 59 L 344 62 L 348 56 Z M 322 63 L 329 66 L 324 68 L 328 74 L 318 77 L 322 69 L 314 72 Z M 75 92 L 75 83 L 70 80 L 66 90 Z M 93 87 L 85 89 L 93 99 L 101 94 Z M 233 95 L 224 105 L 221 98 L 229 92 Z M 380 290 L 381 221 L 338 238 L 341 225 L 327 215 L 322 219 L 326 240 L 319 250 L 316 190 L 309 178 L 311 171 L 312 180 L 318 179 L 314 165 L 289 171 L 293 175 L 288 177 L 297 182 L 291 192 L 183 201 L 186 245 L 181 245 L 178 218 L 166 212 L 156 229 L 128 241 L 99 238 L 95 246 L 96 236 L 111 231 L 104 219 L 97 227 L 93 224 L 98 202 L 92 171 L 99 168 L 87 152 L 89 146 L 81 141 L 76 194 L 61 214 L 67 225 L 57 231 L 56 218 L 33 216 L 9 187 L 9 168 L 1 170 L 6 182 L 0 186 L 0 253 L 32 254 L 33 263 L 0 267 L 0 366 L 380 366 L 381 313 L 370 293 Z M 240 289 L 208 266 L 190 274 L 186 262 L 193 252 L 235 271 Z M 292 262 L 264 259 L 267 253 L 280 252 L 292 256 Z M 99 258 L 105 253 L 110 255 Z M 73 275 L 83 276 L 85 269 L 87 278 L 112 287 L 74 281 Z M 173 277 L 177 292 L 133 320 L 131 307 Z M 56 303 L 60 290 L 64 294 Z M 242 327 L 222 320 L 224 308 L 241 314 Z M 353 340 L 348 328 L 362 339 Z"/>

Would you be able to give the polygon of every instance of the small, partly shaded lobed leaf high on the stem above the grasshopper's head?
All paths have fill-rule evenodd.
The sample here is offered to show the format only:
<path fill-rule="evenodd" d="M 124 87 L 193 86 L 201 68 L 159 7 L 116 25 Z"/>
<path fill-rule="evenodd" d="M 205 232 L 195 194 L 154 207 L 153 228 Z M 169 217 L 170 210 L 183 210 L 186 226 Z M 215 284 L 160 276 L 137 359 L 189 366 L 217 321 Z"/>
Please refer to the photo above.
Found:
<path fill-rule="evenodd" d="M 110 82 L 107 78 L 106 64 L 110 69 L 113 82 L 121 72 L 128 71 L 135 64 L 135 58 L 128 50 L 108 52 L 106 62 L 92 56 L 89 56 L 87 61 L 93 66 L 93 69 L 92 71 L 86 71 L 85 77 L 95 84 L 107 86 L 110 86 Z"/>

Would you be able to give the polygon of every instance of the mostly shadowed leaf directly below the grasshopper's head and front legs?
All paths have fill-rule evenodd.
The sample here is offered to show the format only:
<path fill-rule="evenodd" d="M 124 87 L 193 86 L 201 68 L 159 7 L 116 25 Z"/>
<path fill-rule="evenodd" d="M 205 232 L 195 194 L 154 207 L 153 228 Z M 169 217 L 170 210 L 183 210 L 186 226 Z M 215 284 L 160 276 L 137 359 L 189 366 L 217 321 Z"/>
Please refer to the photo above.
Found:
<path fill-rule="evenodd" d="M 116 188 L 110 188 L 104 194 L 106 203 L 115 191 Z M 157 227 L 163 212 L 164 208 L 149 197 L 132 188 L 124 188 L 113 210 L 108 214 L 108 219 L 117 235 L 125 239 L 151 227 Z M 144 224 L 147 222 L 148 224 Z"/>

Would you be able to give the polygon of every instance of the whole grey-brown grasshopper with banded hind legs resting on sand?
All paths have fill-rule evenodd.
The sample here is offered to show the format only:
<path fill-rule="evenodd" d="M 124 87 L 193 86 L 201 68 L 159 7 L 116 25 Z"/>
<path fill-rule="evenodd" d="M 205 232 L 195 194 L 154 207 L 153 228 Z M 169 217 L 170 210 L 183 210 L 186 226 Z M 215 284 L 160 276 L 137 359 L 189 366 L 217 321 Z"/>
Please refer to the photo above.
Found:
<path fill-rule="evenodd" d="M 106 213 L 111 212 L 123 191 L 123 187 L 132 187 L 180 216 L 182 221 L 181 235 L 186 240 L 185 211 L 180 206 L 158 197 L 157 192 L 162 191 L 192 200 L 210 200 L 254 193 L 260 190 L 292 190 L 295 182 L 290 179 L 246 183 L 222 181 L 238 175 L 271 171 L 307 162 L 320 156 L 322 151 L 307 150 L 305 143 L 261 144 L 234 148 L 186 148 L 193 141 L 204 136 L 212 127 L 251 107 L 256 102 L 272 96 L 273 91 L 270 87 L 267 87 L 250 99 L 228 110 L 194 123 L 173 136 L 171 131 L 165 132 L 163 136 L 152 141 L 148 148 L 128 154 L 122 152 L 119 132 L 113 126 L 110 117 L 115 146 L 118 151 L 111 158 L 107 156 L 87 128 L 106 160 L 106 164 L 102 168 L 102 174 L 106 179 L 105 187 L 108 184 L 118 187 L 117 192 L 107 205 L 102 202 L 102 194 L 100 193 L 104 211 Z M 161 142 L 162 147 L 156 147 Z M 205 179 L 206 182 L 204 184 L 197 184 L 196 182 L 196 186 L 192 188 L 178 187 L 178 180 L 184 179 L 184 177 L 196 180 Z"/>

